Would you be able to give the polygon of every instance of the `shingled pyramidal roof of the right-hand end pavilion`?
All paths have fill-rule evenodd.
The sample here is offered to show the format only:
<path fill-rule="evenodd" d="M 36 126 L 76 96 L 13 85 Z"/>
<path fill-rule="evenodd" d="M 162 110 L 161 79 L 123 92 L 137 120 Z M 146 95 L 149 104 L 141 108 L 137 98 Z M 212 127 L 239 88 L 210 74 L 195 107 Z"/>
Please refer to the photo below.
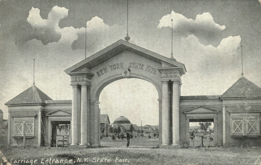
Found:
<path fill-rule="evenodd" d="M 261 97 L 261 88 L 241 77 L 228 90 L 221 95 L 221 98 L 257 98 Z"/>

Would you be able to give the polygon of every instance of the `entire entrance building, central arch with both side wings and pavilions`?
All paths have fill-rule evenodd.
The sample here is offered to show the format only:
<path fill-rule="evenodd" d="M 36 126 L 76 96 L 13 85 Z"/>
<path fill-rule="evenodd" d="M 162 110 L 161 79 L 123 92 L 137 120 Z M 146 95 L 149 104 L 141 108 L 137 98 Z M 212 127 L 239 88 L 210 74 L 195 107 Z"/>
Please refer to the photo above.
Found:
<path fill-rule="evenodd" d="M 261 88 L 241 77 L 219 96 L 180 96 L 184 64 L 119 40 L 65 70 L 72 100 L 52 100 L 35 84 L 6 102 L 8 144 L 50 145 L 70 124 L 70 145 L 100 145 L 99 95 L 116 80 L 151 82 L 159 102 L 160 146 L 189 143 L 190 122 L 213 122 L 215 146 L 260 146 Z"/>

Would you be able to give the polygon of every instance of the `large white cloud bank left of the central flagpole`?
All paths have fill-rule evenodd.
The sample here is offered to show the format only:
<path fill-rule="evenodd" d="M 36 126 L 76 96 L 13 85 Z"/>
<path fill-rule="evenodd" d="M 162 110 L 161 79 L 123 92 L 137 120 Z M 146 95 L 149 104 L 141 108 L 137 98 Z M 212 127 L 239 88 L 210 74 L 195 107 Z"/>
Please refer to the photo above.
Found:
<path fill-rule="evenodd" d="M 38 8 L 32 8 L 29 12 L 27 21 L 34 30 L 33 38 L 41 40 L 44 45 L 51 42 L 58 42 L 61 46 L 72 47 L 72 49 L 85 49 L 85 27 L 59 27 L 59 21 L 68 16 L 68 9 L 54 6 L 48 19 L 40 16 Z M 105 24 L 103 19 L 94 16 L 86 22 L 88 53 L 94 53 L 108 44 L 116 41 L 121 34 L 121 28 L 118 25 L 110 26 Z"/>

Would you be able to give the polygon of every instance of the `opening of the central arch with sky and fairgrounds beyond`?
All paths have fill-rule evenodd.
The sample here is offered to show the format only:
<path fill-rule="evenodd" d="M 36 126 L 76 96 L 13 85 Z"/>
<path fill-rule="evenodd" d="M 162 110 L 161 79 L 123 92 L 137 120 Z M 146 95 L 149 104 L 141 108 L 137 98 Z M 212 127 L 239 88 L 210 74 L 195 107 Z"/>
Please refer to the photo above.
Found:
<path fill-rule="evenodd" d="M 139 78 L 121 78 L 105 84 L 99 92 L 98 101 L 100 114 L 108 114 L 110 125 L 108 137 L 101 137 L 101 145 L 124 146 L 126 140 L 122 139 L 125 139 L 126 132 L 130 131 L 130 146 L 157 146 L 160 95 L 156 86 Z M 117 132 L 117 127 L 120 127 L 120 132 Z"/>

